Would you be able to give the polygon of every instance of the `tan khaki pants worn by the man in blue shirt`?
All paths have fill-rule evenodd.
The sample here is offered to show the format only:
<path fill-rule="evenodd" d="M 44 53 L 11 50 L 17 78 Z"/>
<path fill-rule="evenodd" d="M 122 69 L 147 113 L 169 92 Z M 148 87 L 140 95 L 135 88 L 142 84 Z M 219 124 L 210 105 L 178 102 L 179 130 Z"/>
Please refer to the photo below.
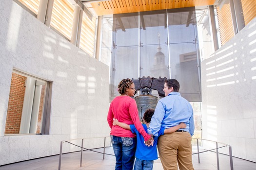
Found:
<path fill-rule="evenodd" d="M 188 132 L 165 134 L 158 139 L 158 153 L 164 170 L 194 170 L 191 135 Z"/>

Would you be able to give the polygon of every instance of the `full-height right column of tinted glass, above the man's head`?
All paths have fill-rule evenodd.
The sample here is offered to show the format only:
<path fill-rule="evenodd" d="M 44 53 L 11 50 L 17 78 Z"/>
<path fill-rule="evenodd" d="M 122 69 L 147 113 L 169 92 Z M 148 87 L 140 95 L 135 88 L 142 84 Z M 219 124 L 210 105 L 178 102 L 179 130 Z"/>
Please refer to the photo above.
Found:
<path fill-rule="evenodd" d="M 201 102 L 195 8 L 168 10 L 168 27 L 171 78 L 180 83 L 182 97 Z"/>

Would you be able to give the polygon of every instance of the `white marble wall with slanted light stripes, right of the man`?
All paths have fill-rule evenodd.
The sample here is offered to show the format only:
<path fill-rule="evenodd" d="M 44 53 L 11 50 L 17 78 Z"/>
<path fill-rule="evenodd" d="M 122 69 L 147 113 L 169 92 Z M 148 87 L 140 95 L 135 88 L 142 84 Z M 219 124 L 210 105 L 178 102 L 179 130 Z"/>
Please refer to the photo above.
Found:
<path fill-rule="evenodd" d="M 202 137 L 256 162 L 256 18 L 202 61 L 201 74 Z"/>

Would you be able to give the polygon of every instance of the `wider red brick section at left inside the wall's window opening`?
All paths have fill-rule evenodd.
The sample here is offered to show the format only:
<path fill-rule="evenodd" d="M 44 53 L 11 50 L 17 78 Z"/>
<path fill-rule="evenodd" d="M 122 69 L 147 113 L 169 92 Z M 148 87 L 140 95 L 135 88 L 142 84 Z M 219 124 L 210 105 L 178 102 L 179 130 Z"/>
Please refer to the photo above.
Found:
<path fill-rule="evenodd" d="M 25 76 L 16 73 L 12 74 L 5 134 L 19 134 L 20 132 L 20 120 L 25 95 L 25 80 Z"/>

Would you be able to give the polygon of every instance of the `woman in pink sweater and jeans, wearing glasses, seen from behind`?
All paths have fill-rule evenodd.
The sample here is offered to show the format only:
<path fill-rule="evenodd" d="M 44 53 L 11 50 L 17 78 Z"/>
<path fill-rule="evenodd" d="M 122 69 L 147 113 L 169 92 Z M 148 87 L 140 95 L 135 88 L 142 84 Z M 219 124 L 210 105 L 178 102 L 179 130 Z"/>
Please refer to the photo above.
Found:
<path fill-rule="evenodd" d="M 136 134 L 120 126 L 113 126 L 113 119 L 126 124 L 134 124 L 146 143 L 151 143 L 153 137 L 148 135 L 138 117 L 137 104 L 131 97 L 135 94 L 135 85 L 131 79 L 123 79 L 118 85 L 120 96 L 111 103 L 108 111 L 108 124 L 111 128 L 111 142 L 116 156 L 116 170 L 132 170 L 137 145 Z"/>

